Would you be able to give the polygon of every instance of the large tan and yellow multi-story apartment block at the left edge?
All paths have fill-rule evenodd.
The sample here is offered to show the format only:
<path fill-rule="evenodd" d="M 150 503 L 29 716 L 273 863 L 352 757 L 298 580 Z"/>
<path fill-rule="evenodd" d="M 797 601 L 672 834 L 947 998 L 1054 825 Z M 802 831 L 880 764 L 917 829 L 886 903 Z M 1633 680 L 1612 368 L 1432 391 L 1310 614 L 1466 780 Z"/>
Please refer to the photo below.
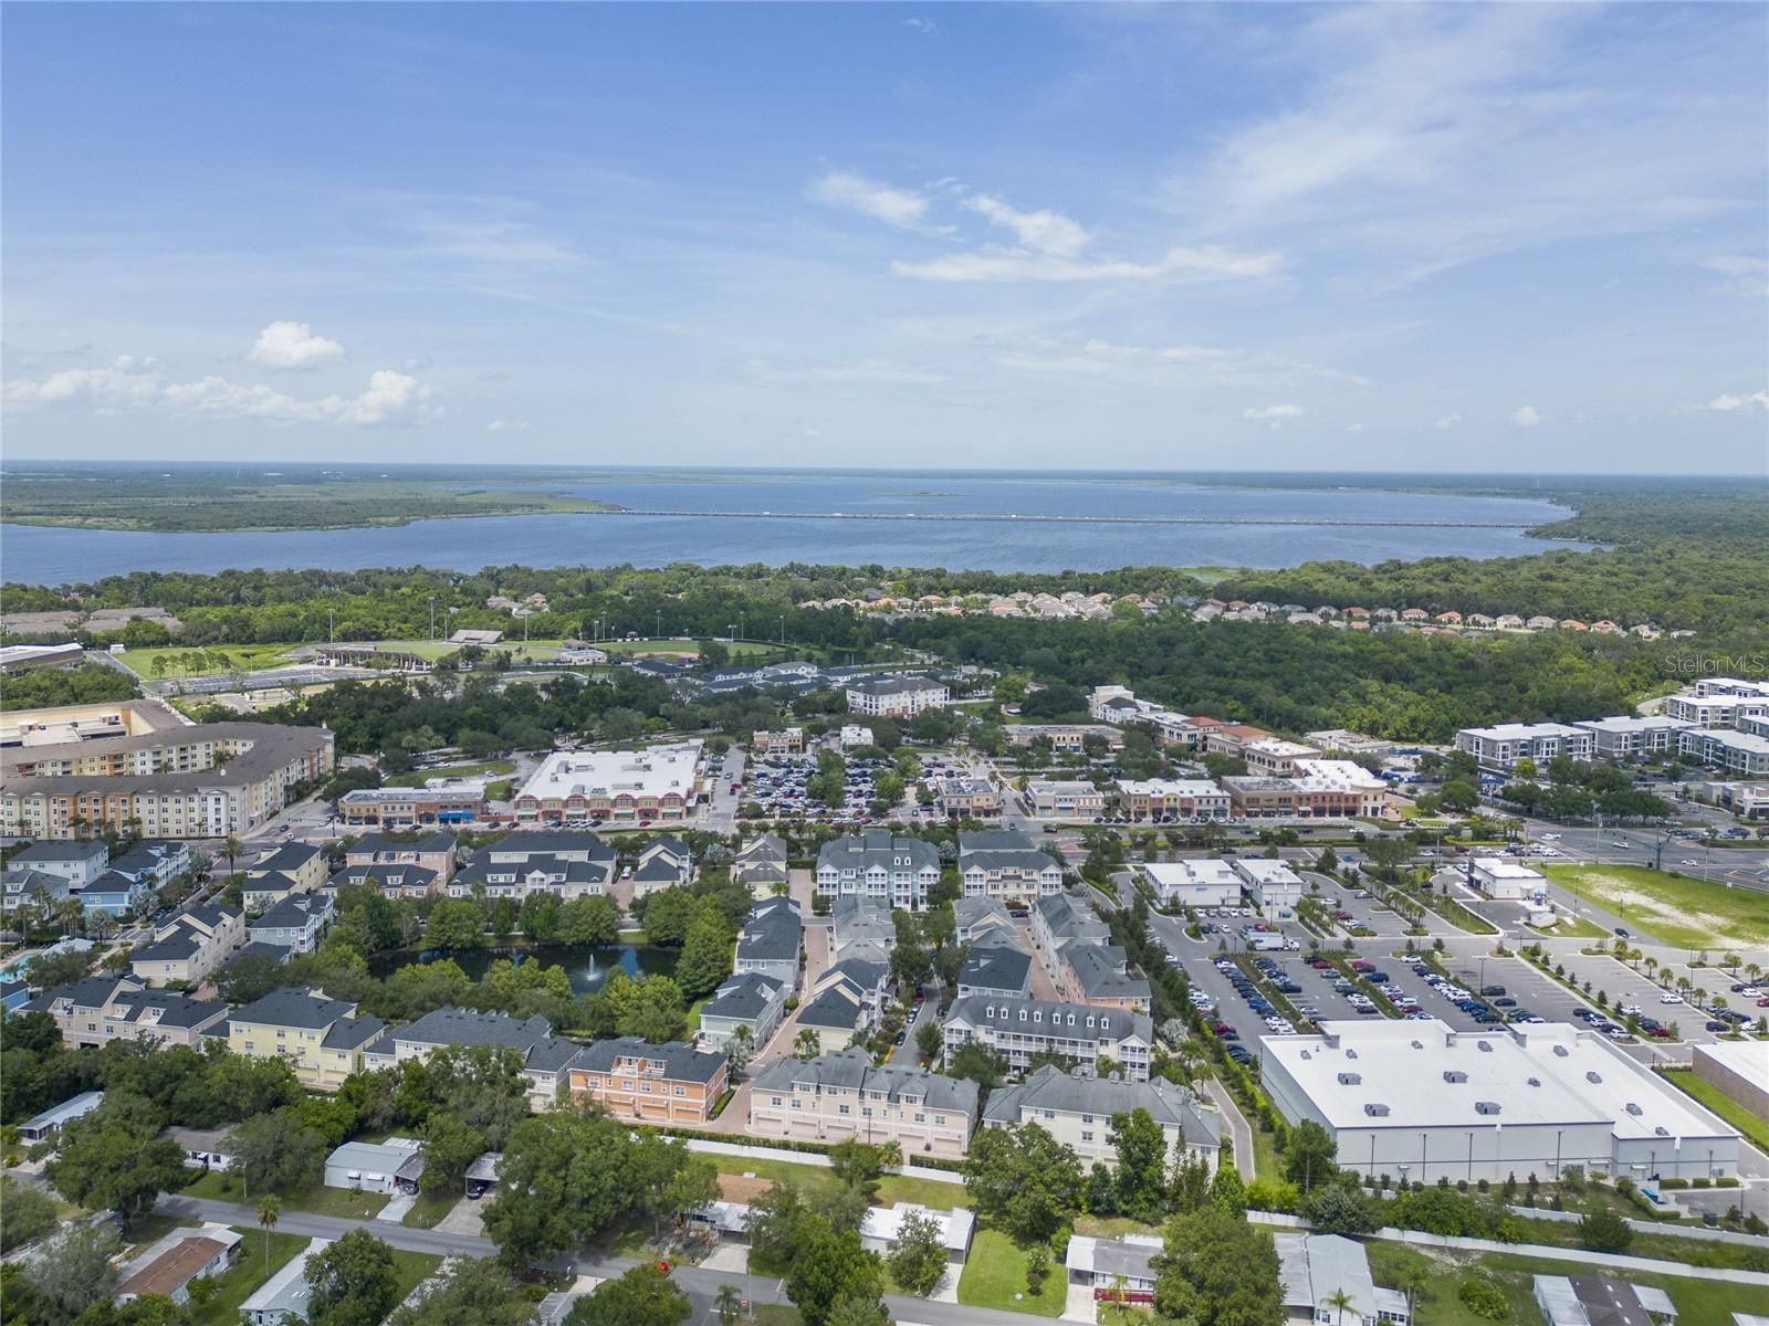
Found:
<path fill-rule="evenodd" d="M 272 723 L 193 723 L 0 753 L 0 831 L 74 838 L 99 826 L 149 838 L 257 829 L 333 769 L 333 734 Z"/>

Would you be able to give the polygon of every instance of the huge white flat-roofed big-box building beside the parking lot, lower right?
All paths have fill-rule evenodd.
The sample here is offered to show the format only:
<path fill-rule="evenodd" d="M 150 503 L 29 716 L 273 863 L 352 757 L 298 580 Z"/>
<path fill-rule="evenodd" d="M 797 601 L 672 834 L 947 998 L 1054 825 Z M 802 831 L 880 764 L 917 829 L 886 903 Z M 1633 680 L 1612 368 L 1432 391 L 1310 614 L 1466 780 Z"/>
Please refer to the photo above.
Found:
<path fill-rule="evenodd" d="M 1314 1119 L 1360 1174 L 1553 1179 L 1566 1165 L 1645 1179 L 1735 1174 L 1739 1135 L 1675 1087 L 1566 1022 L 1451 1031 L 1327 1022 L 1260 1045 L 1286 1119 Z"/>

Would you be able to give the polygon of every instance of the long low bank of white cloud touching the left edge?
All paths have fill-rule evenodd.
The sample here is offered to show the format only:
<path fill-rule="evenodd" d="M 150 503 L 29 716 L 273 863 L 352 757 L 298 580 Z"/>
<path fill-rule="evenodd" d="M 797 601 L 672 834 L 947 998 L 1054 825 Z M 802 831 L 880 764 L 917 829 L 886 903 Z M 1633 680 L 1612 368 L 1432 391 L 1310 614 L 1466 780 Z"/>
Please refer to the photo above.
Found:
<path fill-rule="evenodd" d="M 423 424 L 442 417 L 430 403 L 430 387 L 393 370 L 371 373 L 357 396 L 302 400 L 265 385 L 248 385 L 209 375 L 195 382 L 168 382 L 154 359 L 124 355 L 108 368 L 67 370 L 41 382 L 5 384 L 12 405 L 88 405 L 103 414 L 165 410 L 168 414 L 269 419 L 322 424 Z"/>

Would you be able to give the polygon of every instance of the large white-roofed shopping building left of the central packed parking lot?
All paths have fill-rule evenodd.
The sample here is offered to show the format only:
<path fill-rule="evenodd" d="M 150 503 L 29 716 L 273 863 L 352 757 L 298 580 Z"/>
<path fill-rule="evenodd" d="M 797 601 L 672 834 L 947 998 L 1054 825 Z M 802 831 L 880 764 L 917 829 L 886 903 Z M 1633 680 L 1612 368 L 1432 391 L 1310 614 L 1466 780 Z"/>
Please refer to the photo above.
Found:
<path fill-rule="evenodd" d="M 517 792 L 522 824 L 685 820 L 708 794 L 706 743 L 632 751 L 555 751 Z"/>

